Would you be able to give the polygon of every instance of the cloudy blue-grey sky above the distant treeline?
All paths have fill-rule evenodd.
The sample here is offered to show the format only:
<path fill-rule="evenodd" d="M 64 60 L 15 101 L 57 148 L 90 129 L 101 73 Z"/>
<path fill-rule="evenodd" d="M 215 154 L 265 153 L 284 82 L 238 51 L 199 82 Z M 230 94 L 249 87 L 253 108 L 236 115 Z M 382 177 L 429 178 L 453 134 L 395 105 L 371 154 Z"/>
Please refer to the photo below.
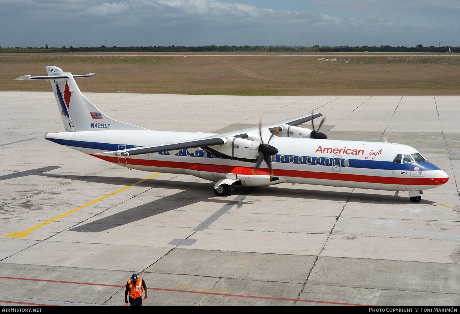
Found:
<path fill-rule="evenodd" d="M 457 47 L 459 17 L 459 0 L 0 0 L 0 46 Z"/>

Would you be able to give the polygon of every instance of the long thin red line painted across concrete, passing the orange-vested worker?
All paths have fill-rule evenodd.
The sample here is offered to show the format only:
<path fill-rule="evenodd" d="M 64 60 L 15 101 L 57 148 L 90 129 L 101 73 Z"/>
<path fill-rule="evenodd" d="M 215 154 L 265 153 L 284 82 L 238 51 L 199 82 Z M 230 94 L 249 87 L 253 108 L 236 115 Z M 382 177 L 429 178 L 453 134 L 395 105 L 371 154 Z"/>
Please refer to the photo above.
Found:
<path fill-rule="evenodd" d="M 0 278 L 17 279 L 17 280 L 31 280 L 31 281 L 46 281 L 46 282 L 57 282 L 57 283 L 63 283 L 63 284 L 77 284 L 77 285 L 99 285 L 99 286 L 117 287 L 117 288 L 126 287 L 126 285 L 90 284 L 90 283 L 86 283 L 86 282 L 74 282 L 74 281 L 16 278 L 16 277 L 0 277 Z M 312 303 L 326 303 L 326 304 L 354 305 L 354 306 L 371 306 L 371 305 L 366 305 L 366 304 L 328 302 L 328 301 L 314 301 L 314 300 L 303 300 L 303 299 L 297 300 L 297 299 L 287 299 L 287 298 L 278 298 L 278 297 L 245 296 L 245 295 L 238 295 L 238 294 L 226 294 L 226 293 L 204 292 L 204 291 L 187 291 L 187 290 L 162 289 L 162 288 L 147 288 L 147 289 L 149 289 L 149 290 L 158 290 L 158 291 L 173 291 L 173 292 L 188 292 L 188 293 L 198 293 L 198 294 L 211 294 L 211 295 L 215 295 L 215 296 L 245 297 L 245 298 L 255 298 L 255 299 L 265 299 L 265 300 L 298 301 L 298 302 L 312 302 Z M 7 302 L 7 301 L 2 301 L 2 302 Z M 11 303 L 15 303 L 15 302 L 11 302 Z M 28 304 L 28 303 L 24 303 L 24 304 Z M 32 303 L 29 303 L 29 304 L 32 304 Z M 41 305 L 46 305 L 46 304 L 41 304 Z"/>

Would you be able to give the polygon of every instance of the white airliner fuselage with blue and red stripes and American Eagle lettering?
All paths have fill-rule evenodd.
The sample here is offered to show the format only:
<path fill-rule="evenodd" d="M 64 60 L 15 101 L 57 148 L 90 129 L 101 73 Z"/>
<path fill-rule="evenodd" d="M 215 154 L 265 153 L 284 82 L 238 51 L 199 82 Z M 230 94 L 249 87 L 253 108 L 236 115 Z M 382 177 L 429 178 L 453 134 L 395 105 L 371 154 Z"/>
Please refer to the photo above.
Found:
<path fill-rule="evenodd" d="M 251 176 L 255 161 L 251 163 L 216 157 L 202 149 L 189 149 L 191 153 L 183 149 L 174 151 L 173 155 L 171 152 L 128 157 L 96 155 L 106 151 L 165 145 L 213 135 L 218 136 L 144 129 L 47 133 L 45 138 L 132 169 L 191 174 L 212 181 L 228 178 L 229 174 Z M 393 162 L 398 154 L 404 156 L 418 153 L 407 145 L 277 136 L 273 136 L 272 140 L 270 145 L 278 149 L 278 153 L 271 159 L 273 176 L 281 178 L 273 184 L 292 182 L 390 191 L 422 191 L 449 180 L 443 170 L 427 161 Z M 265 162 L 257 174 L 270 175 Z M 243 185 L 251 185 L 249 180 L 247 184 L 242 181 Z"/>

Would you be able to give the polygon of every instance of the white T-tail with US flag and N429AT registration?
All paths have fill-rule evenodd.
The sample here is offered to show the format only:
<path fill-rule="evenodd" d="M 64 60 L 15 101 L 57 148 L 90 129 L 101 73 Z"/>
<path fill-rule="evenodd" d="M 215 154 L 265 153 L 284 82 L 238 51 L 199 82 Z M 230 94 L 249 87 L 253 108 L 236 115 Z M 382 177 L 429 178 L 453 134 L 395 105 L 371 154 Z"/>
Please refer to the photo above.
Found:
<path fill-rule="evenodd" d="M 146 130 L 109 118 L 80 92 L 75 78 L 94 76 L 94 73 L 73 76 L 72 73 L 63 72 L 57 66 L 47 66 L 46 71 L 47 76 L 25 75 L 15 81 L 43 79 L 50 81 L 66 131 Z"/>

